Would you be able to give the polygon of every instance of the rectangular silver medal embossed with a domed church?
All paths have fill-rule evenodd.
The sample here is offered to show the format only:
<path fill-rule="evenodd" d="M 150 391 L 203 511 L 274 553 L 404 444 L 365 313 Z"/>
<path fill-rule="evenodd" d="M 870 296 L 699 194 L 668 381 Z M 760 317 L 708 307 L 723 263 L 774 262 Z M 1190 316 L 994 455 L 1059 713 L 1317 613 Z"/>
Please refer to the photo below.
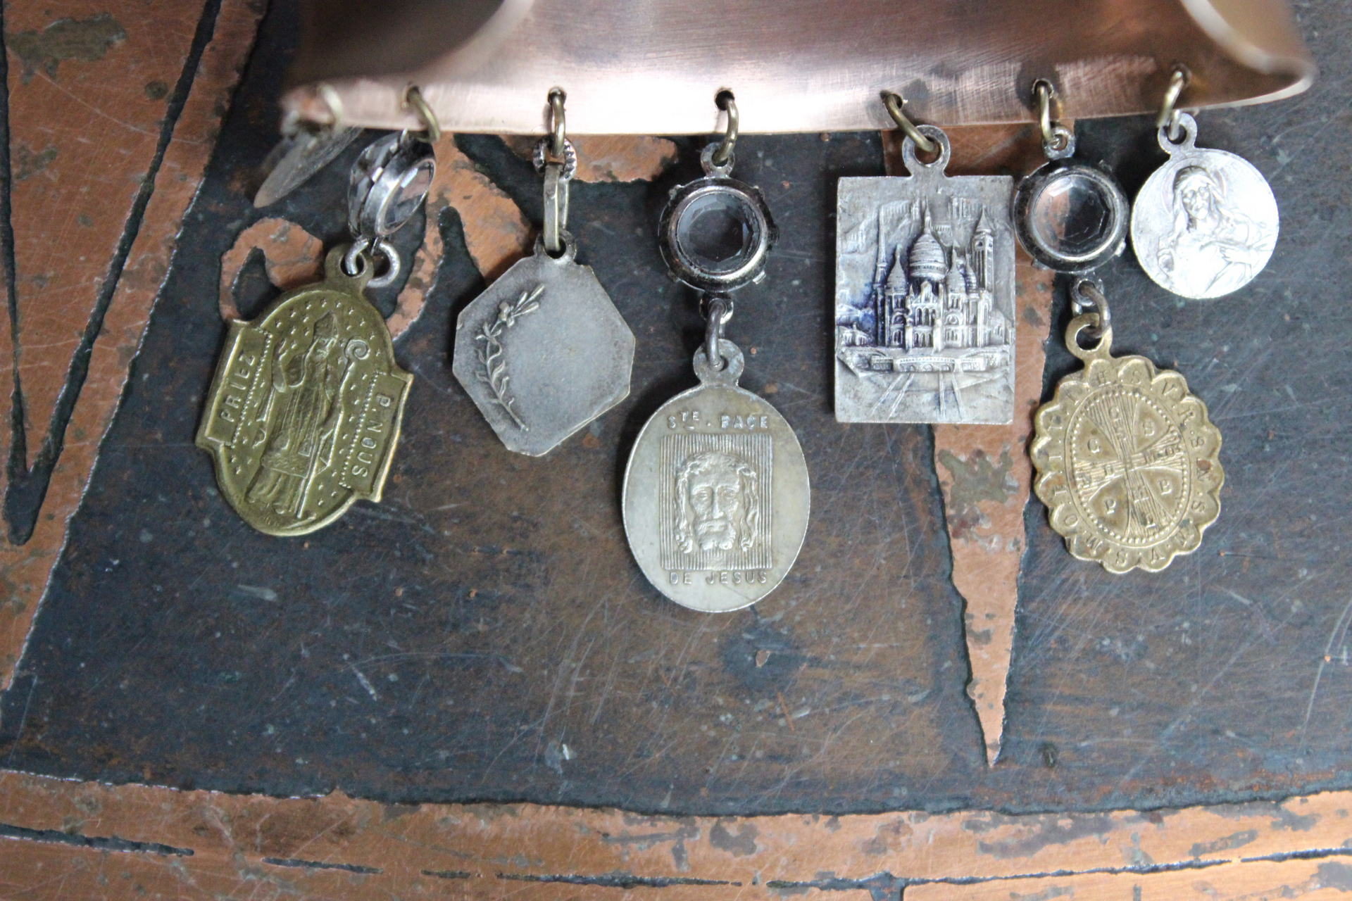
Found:
<path fill-rule="evenodd" d="M 1009 423 L 1014 416 L 1014 236 L 1009 176 L 949 177 L 948 136 L 910 177 L 841 178 L 836 419 Z"/>

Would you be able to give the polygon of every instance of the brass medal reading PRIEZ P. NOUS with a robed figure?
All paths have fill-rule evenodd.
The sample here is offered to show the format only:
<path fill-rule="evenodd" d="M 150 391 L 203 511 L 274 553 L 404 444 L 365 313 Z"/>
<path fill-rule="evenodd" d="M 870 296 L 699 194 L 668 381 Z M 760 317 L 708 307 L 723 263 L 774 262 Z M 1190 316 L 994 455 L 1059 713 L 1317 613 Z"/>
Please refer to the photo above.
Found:
<path fill-rule="evenodd" d="M 357 498 L 380 500 L 414 377 L 395 363 L 385 320 L 362 296 L 373 263 L 230 323 L 197 447 L 235 512 L 268 535 L 304 535 Z"/>

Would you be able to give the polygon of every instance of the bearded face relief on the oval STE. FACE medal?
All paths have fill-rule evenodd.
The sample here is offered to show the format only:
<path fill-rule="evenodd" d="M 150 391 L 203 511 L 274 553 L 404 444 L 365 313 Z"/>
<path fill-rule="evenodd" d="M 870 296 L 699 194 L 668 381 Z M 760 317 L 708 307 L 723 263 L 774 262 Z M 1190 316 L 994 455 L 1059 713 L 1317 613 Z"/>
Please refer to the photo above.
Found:
<path fill-rule="evenodd" d="M 683 554 L 749 551 L 760 504 L 754 467 L 735 454 L 710 450 L 676 471 L 676 543 Z"/>

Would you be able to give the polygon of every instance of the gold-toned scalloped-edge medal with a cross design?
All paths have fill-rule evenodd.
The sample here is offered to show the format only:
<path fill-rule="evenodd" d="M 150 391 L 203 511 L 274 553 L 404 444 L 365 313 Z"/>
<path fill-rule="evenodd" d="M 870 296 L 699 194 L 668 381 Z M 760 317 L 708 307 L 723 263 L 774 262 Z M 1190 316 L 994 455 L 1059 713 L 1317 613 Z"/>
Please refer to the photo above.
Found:
<path fill-rule="evenodd" d="M 1034 417 L 1037 496 L 1071 555 L 1110 573 L 1157 573 L 1191 554 L 1221 512 L 1221 432 L 1179 373 L 1145 357 L 1113 357 L 1111 327 L 1096 347 L 1076 338 L 1098 327 L 1076 316 L 1065 343 L 1084 361 Z"/>

